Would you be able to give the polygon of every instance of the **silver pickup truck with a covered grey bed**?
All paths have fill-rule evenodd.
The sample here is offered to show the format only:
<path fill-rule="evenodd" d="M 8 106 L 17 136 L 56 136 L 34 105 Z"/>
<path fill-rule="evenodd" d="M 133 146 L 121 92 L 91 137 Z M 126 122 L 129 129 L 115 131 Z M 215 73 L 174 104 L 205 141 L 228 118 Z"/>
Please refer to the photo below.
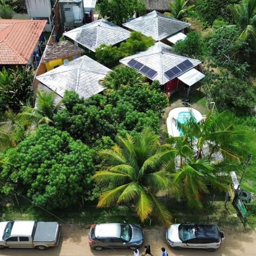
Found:
<path fill-rule="evenodd" d="M 59 238 L 58 222 L 23 220 L 0 222 L 0 249 L 13 247 L 45 250 L 57 246 Z"/>

